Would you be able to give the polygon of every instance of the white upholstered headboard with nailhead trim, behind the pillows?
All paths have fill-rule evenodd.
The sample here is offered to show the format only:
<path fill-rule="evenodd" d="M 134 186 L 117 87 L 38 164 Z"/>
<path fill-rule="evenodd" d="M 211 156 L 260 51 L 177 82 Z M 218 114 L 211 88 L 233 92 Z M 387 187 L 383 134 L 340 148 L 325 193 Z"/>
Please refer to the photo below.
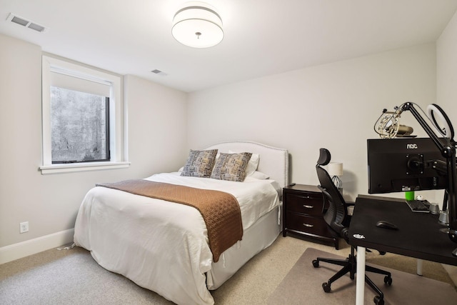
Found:
<path fill-rule="evenodd" d="M 228 153 L 250 152 L 258 154 L 260 161 L 258 162 L 258 171 L 270 176 L 278 182 L 281 187 L 288 185 L 288 151 L 287 149 L 278 149 L 273 146 L 260 144 L 250 141 L 231 141 L 214 144 L 205 149 L 219 149 L 219 152 Z"/>

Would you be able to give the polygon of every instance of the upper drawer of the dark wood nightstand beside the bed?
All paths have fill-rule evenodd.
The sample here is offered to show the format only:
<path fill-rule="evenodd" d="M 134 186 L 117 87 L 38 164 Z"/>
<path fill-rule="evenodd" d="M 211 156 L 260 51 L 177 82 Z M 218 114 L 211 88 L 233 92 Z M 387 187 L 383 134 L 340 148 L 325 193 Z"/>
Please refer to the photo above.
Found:
<path fill-rule="evenodd" d="M 322 194 L 286 194 L 286 201 L 287 211 L 322 217 Z"/>

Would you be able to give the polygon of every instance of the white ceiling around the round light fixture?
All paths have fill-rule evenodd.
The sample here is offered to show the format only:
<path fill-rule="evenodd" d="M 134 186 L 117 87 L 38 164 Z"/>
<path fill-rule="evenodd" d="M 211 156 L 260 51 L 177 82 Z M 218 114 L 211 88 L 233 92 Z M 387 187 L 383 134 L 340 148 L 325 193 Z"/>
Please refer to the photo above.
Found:
<path fill-rule="evenodd" d="M 173 16 L 184 3 L 0 0 L 0 33 L 51 54 L 192 92 L 430 43 L 457 9 L 456 0 L 206 0 L 221 16 L 224 40 L 193 49 L 171 36 Z M 47 30 L 6 21 L 10 13 Z"/>

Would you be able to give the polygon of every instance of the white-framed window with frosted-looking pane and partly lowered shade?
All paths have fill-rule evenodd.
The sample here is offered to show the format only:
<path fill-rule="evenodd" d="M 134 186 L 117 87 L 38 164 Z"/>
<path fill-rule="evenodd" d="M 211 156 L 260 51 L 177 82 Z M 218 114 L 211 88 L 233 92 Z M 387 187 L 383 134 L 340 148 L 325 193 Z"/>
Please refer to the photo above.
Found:
<path fill-rule="evenodd" d="M 43 56 L 41 174 L 129 166 L 121 76 Z"/>

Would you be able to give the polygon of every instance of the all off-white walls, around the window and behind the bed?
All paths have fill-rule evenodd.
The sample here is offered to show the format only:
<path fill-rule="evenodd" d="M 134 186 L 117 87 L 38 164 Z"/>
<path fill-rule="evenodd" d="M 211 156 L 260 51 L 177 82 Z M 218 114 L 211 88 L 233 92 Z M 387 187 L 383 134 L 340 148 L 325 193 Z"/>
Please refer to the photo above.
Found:
<path fill-rule="evenodd" d="M 366 194 L 366 139 L 377 137 L 373 124 L 382 109 L 405 101 L 425 108 L 437 99 L 456 121 L 456 34 L 454 16 L 437 42 L 438 51 L 435 44 L 413 46 L 188 97 L 126 76 L 131 167 L 49 176 L 38 170 L 41 48 L 0 35 L 0 263 L 2 249 L 71 230 L 81 199 L 96 182 L 174 171 L 189 148 L 220 141 L 245 139 L 287 148 L 291 181 L 301 184 L 317 184 L 318 149 L 326 147 L 333 161 L 344 164 L 346 198 Z M 411 114 L 403 114 L 402 123 L 424 135 Z M 29 233 L 19 234 L 21 221 L 29 221 Z"/>

